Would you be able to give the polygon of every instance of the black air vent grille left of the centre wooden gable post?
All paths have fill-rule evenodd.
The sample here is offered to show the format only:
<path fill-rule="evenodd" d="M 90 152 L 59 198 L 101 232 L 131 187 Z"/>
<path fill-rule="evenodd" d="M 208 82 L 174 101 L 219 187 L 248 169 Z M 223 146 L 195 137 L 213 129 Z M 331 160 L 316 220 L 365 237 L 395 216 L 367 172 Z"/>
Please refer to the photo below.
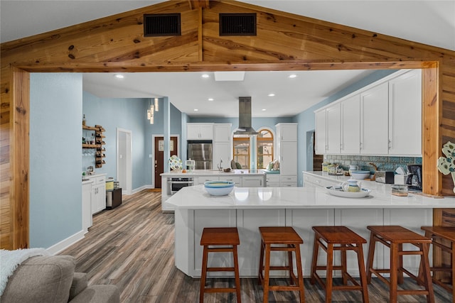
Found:
<path fill-rule="evenodd" d="M 144 15 L 144 36 L 181 35 L 180 13 Z"/>

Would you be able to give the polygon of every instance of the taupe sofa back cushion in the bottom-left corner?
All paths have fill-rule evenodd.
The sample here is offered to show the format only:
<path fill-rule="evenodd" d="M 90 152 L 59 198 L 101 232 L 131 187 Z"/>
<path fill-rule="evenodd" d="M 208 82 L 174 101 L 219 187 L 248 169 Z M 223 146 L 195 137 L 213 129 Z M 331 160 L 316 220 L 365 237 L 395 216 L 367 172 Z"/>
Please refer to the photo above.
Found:
<path fill-rule="evenodd" d="M 1 302 L 67 303 L 74 270 L 71 255 L 28 258 L 9 277 Z"/>

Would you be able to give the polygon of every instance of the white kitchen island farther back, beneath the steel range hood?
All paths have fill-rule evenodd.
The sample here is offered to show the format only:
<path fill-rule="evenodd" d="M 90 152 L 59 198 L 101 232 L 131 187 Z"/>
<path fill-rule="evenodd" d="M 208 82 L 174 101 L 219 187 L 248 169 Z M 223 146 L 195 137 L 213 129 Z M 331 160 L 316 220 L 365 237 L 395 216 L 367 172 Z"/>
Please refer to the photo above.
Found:
<path fill-rule="evenodd" d="M 267 175 L 262 170 L 230 170 L 224 172 L 220 170 L 193 170 L 193 172 L 164 172 L 161 174 L 161 210 L 173 211 L 173 206 L 165 204 L 171 197 L 172 190 L 170 181 L 173 178 L 191 179 L 193 185 L 204 184 L 206 181 L 232 181 L 236 187 L 265 187 L 267 185 Z"/>

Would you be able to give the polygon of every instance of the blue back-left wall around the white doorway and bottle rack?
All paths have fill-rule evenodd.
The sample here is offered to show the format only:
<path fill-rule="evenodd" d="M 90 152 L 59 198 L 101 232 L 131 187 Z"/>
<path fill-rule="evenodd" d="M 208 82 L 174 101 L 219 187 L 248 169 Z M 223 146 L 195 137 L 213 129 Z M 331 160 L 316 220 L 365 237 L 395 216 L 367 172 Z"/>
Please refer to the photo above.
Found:
<path fill-rule="evenodd" d="M 95 168 L 97 173 L 107 173 L 107 177 L 117 179 L 117 128 L 132 131 L 132 189 L 152 184 L 153 155 L 152 135 L 162 135 L 164 129 L 163 100 L 159 100 L 159 111 L 154 114 L 154 124 L 146 119 L 146 111 L 152 100 L 149 98 L 99 98 L 83 92 L 83 111 L 87 126 L 101 125 L 104 135 L 105 165 Z M 181 112 L 171 105 L 171 134 L 181 136 Z M 84 157 L 86 158 L 86 157 Z M 95 158 L 89 157 L 95 164 Z M 86 170 L 87 162 L 82 163 Z M 94 165 L 95 166 L 95 165 Z"/>

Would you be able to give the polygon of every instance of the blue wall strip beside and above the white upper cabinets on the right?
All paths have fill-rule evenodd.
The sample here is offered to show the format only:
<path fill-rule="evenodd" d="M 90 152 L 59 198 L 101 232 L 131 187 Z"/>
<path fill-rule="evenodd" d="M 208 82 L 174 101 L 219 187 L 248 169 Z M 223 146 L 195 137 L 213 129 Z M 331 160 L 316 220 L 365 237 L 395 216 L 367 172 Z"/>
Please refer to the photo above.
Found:
<path fill-rule="evenodd" d="M 307 155 L 308 153 L 312 153 L 313 150 L 311 141 L 309 141 L 310 138 L 309 132 L 314 131 L 315 128 L 314 111 L 316 111 L 316 109 L 321 108 L 322 106 L 326 106 L 327 104 L 330 104 L 331 102 L 336 101 L 350 94 L 351 92 L 355 92 L 356 90 L 361 89 L 362 87 L 365 87 L 368 84 L 378 81 L 379 79 L 382 79 L 383 77 L 386 77 L 396 71 L 397 70 L 378 70 L 376 72 L 373 72 L 372 74 L 368 75 L 368 77 L 365 77 L 360 81 L 355 82 L 349 87 L 346 87 L 346 89 L 342 89 L 340 92 L 333 94 L 331 97 L 324 99 L 323 101 L 319 102 L 319 104 L 311 106 L 309 109 L 306 109 L 306 111 L 302 111 L 300 114 L 294 117 L 293 122 L 299 123 L 297 126 L 299 136 L 297 148 L 297 154 L 299 155 L 299 159 L 297 161 L 298 162 L 297 177 L 299 186 L 303 185 L 303 176 L 301 172 L 303 172 L 304 170 L 313 170 L 312 155 L 311 160 L 307 159 Z"/>

